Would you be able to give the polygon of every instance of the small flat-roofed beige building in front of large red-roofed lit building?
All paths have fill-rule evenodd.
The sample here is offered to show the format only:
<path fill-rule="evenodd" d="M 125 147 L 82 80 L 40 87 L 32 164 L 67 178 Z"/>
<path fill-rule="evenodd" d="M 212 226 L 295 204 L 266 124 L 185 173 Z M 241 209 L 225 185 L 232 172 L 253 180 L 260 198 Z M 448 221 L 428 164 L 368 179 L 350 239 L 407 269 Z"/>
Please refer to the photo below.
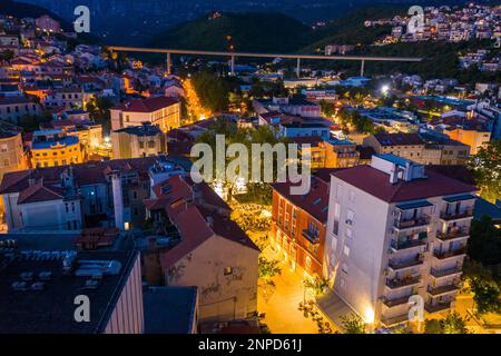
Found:
<path fill-rule="evenodd" d="M 114 158 L 137 158 L 165 154 L 166 135 L 149 122 L 111 132 Z"/>

